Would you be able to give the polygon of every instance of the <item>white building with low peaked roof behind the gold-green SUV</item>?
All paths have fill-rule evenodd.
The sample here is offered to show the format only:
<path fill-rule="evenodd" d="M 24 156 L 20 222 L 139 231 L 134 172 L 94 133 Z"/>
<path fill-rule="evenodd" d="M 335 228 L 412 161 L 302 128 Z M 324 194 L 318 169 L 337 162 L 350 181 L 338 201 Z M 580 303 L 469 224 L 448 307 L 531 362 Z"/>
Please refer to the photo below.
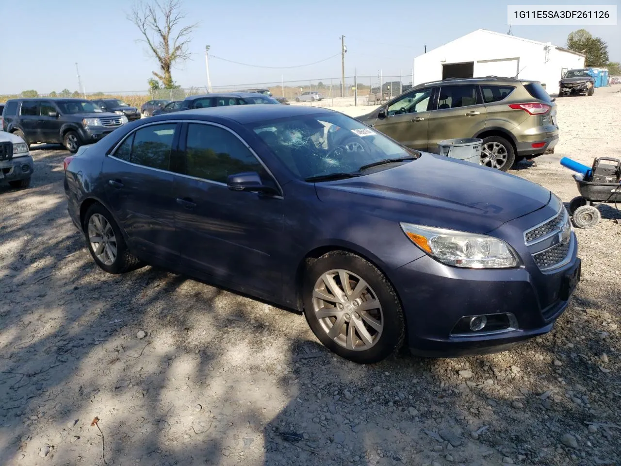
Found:
<path fill-rule="evenodd" d="M 549 42 L 479 29 L 414 58 L 414 85 L 494 75 L 540 81 L 549 94 L 557 94 L 558 81 L 571 68 L 584 68 L 584 55 Z"/>

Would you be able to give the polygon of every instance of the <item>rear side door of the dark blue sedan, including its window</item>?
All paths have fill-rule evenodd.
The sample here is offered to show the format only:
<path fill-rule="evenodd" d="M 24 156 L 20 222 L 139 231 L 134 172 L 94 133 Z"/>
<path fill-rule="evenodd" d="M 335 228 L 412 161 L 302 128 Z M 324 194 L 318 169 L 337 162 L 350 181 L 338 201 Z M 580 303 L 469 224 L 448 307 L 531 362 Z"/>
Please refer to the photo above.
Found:
<path fill-rule="evenodd" d="M 171 153 L 181 124 L 141 126 L 104 159 L 106 195 L 130 243 L 143 255 L 176 262 L 176 201 Z"/>

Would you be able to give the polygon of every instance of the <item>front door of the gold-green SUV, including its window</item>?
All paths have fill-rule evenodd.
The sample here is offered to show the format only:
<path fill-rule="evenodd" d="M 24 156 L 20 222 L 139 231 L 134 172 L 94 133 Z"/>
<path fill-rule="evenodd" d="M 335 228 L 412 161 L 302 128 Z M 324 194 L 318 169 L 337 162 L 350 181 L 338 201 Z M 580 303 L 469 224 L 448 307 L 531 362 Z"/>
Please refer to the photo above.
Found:
<path fill-rule="evenodd" d="M 386 104 L 386 116 L 376 119 L 374 127 L 392 139 L 418 150 L 427 150 L 429 109 L 432 88 L 411 91 Z"/>

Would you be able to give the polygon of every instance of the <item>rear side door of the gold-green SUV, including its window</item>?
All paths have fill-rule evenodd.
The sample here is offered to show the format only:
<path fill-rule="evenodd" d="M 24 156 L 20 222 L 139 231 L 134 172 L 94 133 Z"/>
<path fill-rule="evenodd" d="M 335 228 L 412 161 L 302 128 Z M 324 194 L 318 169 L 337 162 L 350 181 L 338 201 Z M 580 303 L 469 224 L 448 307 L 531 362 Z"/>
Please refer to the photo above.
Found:
<path fill-rule="evenodd" d="M 438 142 L 473 137 L 487 120 L 478 85 L 440 86 L 437 104 L 428 116 L 429 152 L 438 153 Z"/>

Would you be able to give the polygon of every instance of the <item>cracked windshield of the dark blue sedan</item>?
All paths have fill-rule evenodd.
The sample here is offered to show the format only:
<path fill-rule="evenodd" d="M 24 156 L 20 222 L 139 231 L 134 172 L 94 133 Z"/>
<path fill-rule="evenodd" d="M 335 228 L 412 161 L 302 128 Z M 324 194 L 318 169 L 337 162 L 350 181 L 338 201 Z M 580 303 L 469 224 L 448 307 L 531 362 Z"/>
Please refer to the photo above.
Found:
<path fill-rule="evenodd" d="M 262 122 L 251 129 L 299 178 L 364 174 L 361 167 L 417 155 L 343 114 L 315 114 Z M 389 168 L 382 165 L 376 170 Z"/>

